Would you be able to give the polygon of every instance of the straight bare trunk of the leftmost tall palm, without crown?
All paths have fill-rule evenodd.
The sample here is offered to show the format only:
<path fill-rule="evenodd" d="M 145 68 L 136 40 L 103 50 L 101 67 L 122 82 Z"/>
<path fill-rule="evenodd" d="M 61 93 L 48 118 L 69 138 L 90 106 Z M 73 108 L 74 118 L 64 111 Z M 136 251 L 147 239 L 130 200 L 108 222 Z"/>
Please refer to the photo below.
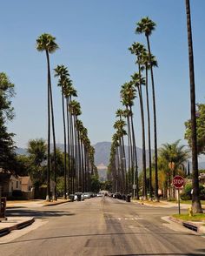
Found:
<path fill-rule="evenodd" d="M 48 66 L 48 157 L 47 157 L 47 188 L 46 201 L 50 201 L 50 57 L 46 51 L 47 66 Z"/>

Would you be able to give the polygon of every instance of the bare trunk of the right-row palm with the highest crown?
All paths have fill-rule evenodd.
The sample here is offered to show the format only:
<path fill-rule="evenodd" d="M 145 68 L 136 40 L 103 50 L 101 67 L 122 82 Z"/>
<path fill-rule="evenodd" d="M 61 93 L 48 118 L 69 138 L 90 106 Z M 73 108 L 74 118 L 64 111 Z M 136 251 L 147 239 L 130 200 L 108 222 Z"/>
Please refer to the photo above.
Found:
<path fill-rule="evenodd" d="M 153 116 L 154 116 L 154 138 L 155 138 L 155 199 L 159 201 L 158 194 L 158 165 L 157 165 L 157 132 L 156 132 L 156 111 L 155 111 L 155 83 L 154 83 L 154 75 L 153 68 L 151 64 L 151 51 L 149 45 L 149 36 L 146 35 L 147 43 L 148 43 L 148 51 L 149 51 L 149 64 L 151 71 L 151 83 L 152 83 L 152 102 L 153 102 Z"/>

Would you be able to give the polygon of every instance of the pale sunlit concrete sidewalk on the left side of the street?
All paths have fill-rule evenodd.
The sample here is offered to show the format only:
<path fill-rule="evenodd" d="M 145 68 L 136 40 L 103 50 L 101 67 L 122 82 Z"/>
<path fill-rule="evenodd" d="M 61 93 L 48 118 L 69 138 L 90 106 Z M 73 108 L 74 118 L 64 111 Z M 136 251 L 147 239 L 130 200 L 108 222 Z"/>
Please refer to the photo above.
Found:
<path fill-rule="evenodd" d="M 47 202 L 45 200 L 29 200 L 29 201 L 7 201 L 6 208 L 18 208 L 18 207 L 43 207 L 51 205 L 60 205 L 68 203 L 68 199 L 57 199 L 57 201 Z M 5 214 L 6 215 L 6 214 Z M 9 234 L 13 230 L 22 229 L 23 227 L 30 226 L 35 219 L 33 217 L 8 217 L 7 219 L 0 219 L 0 238 L 6 234 Z"/>

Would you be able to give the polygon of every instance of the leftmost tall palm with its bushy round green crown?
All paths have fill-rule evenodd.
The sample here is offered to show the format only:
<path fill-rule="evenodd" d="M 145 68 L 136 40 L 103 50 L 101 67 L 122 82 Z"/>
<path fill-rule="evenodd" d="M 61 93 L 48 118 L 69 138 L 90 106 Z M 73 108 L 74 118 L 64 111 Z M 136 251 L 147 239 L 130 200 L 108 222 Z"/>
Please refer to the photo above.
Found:
<path fill-rule="evenodd" d="M 53 130 L 53 143 L 54 143 L 54 158 L 56 162 L 56 138 L 54 129 L 54 116 L 52 107 L 52 91 L 51 91 L 51 78 L 50 78 L 50 53 L 53 53 L 58 49 L 58 45 L 55 42 L 56 37 L 52 37 L 50 34 L 42 34 L 36 39 L 36 50 L 45 51 L 47 59 L 47 70 L 48 70 L 48 159 L 47 159 L 47 194 L 46 200 L 50 201 L 50 108 L 52 118 L 52 130 Z M 55 164 L 56 172 L 56 164 Z M 55 187 L 56 192 L 56 187 Z"/>

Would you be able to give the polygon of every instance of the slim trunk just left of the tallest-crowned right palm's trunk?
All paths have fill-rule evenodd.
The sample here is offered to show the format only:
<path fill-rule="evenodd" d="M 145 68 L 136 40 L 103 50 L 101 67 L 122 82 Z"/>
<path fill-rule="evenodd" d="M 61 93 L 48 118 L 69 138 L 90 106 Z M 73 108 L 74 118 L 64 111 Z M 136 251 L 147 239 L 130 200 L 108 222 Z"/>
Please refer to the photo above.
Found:
<path fill-rule="evenodd" d="M 150 138 L 150 113 L 149 113 L 149 91 L 148 91 L 148 67 L 146 65 L 146 99 L 148 113 L 148 148 L 149 148 L 149 198 L 152 199 L 152 158 L 151 158 L 151 138 Z"/>

